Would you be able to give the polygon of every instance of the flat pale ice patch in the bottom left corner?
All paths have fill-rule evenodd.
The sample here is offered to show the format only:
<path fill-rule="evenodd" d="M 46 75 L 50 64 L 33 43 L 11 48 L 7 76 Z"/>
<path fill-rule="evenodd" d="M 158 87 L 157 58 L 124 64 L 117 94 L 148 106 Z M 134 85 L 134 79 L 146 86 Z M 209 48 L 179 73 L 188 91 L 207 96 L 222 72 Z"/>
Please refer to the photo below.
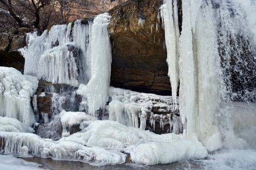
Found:
<path fill-rule="evenodd" d="M 0 155 L 1 169 L 13 170 L 42 170 L 38 163 L 27 162 L 22 159 L 15 158 L 12 155 Z"/>

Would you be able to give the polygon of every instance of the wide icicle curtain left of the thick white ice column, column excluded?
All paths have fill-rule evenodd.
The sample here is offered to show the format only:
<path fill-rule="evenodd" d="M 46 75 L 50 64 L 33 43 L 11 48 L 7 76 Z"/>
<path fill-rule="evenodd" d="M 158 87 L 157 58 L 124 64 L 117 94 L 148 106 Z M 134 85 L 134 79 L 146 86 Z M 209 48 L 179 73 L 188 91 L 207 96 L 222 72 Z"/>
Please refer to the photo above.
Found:
<path fill-rule="evenodd" d="M 78 86 L 87 81 L 87 48 L 91 22 L 75 21 L 68 25 L 53 25 L 38 36 L 37 32 L 27 35 L 27 47 L 20 49 L 25 57 L 24 74 L 37 76 L 52 83 Z M 89 57 L 88 57 L 89 59 Z"/>

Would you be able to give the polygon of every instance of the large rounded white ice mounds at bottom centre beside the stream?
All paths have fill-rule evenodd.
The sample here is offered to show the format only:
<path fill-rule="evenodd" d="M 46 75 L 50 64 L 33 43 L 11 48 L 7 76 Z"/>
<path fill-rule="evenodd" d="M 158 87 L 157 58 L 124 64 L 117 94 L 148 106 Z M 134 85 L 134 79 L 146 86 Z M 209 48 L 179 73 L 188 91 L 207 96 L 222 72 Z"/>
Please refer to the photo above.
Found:
<path fill-rule="evenodd" d="M 113 121 L 94 121 L 84 131 L 66 140 L 80 140 L 88 146 L 124 150 L 131 154 L 131 160 L 135 163 L 153 165 L 201 159 L 207 155 L 205 148 L 196 140 L 183 139 L 182 135 L 175 134 L 156 135 Z"/>

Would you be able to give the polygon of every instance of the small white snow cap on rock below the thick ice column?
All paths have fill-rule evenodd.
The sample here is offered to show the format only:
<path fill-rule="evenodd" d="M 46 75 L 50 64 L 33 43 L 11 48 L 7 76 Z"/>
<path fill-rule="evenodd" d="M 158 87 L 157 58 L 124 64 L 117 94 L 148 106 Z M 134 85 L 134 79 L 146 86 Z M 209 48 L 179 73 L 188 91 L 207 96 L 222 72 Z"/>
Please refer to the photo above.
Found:
<path fill-rule="evenodd" d="M 79 125 L 83 121 L 95 121 L 96 117 L 86 114 L 85 112 L 61 112 L 61 123 L 63 127 L 62 136 L 68 136 L 67 128 L 69 129 L 73 125 Z"/>

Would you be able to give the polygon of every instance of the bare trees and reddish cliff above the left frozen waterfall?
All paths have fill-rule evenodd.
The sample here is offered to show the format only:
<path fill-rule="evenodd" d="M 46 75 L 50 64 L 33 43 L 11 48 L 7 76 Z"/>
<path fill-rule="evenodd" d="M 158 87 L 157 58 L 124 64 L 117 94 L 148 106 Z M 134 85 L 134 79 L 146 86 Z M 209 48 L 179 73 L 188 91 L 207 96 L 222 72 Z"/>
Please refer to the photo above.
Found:
<path fill-rule="evenodd" d="M 39 29 L 103 13 L 125 0 L 0 0 L 0 28 Z"/>

